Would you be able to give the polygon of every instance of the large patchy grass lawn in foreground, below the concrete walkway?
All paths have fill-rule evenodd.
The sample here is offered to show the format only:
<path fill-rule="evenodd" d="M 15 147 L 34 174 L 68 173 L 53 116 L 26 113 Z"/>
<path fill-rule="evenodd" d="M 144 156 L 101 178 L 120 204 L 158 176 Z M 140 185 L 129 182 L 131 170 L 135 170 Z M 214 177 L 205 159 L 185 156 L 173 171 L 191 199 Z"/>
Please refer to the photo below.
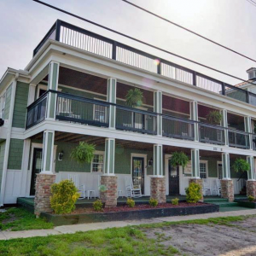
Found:
<path fill-rule="evenodd" d="M 149 239 L 150 230 L 171 225 L 202 224 L 232 226 L 247 217 L 208 218 L 125 228 L 78 232 L 72 235 L 33 237 L 0 241 L 0 255 L 183 255 L 177 248 L 164 246 L 165 239 Z M 156 234 L 157 235 L 157 234 Z"/>

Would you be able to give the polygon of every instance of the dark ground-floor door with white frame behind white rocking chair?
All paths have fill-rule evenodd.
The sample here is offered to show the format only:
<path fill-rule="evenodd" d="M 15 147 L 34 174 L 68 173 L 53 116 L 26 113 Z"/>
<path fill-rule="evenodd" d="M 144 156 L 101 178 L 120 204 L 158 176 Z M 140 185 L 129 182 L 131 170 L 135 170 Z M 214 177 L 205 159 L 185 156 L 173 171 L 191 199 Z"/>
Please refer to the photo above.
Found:
<path fill-rule="evenodd" d="M 132 157 L 132 182 L 136 187 L 141 185 L 142 194 L 144 194 L 144 158 Z"/>

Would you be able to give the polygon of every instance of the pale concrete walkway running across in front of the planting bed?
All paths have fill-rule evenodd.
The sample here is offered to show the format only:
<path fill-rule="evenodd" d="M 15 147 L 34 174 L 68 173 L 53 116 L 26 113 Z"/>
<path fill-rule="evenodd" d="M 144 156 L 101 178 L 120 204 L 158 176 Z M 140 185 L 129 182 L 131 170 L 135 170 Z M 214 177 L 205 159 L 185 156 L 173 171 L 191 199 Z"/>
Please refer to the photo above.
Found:
<path fill-rule="evenodd" d="M 55 227 L 53 230 L 0 231 L 0 240 L 26 238 L 26 237 L 33 237 L 33 236 L 74 234 L 75 232 L 78 232 L 78 231 L 103 230 L 107 228 L 121 228 L 128 225 L 154 224 L 154 223 L 161 223 L 166 221 L 206 219 L 206 218 L 230 217 L 230 216 L 240 216 L 240 215 L 253 215 L 253 214 L 256 214 L 256 209 L 248 209 L 248 210 L 236 211 L 236 212 L 213 212 L 213 213 L 187 215 L 187 216 L 149 218 L 149 219 L 141 219 L 141 220 L 101 222 L 101 223 L 93 223 L 93 224 L 73 224 L 73 225 L 58 226 L 58 227 Z"/>

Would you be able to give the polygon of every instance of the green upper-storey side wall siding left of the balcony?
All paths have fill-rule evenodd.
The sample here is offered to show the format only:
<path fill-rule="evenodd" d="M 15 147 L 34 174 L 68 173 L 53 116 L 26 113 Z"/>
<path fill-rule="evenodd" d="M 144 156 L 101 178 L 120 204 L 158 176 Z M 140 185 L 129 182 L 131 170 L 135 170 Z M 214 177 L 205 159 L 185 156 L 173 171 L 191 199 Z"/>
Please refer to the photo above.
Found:
<path fill-rule="evenodd" d="M 17 82 L 13 127 L 25 128 L 29 84 Z"/>

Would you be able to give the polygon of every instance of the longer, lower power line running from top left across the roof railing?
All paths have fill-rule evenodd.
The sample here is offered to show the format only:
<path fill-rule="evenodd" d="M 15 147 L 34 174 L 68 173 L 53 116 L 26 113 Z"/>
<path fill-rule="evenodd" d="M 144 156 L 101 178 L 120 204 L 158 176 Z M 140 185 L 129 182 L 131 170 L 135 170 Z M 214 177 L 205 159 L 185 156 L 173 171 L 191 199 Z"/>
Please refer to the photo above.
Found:
<path fill-rule="evenodd" d="M 64 9 L 57 8 L 57 7 L 53 6 L 53 5 L 50 5 L 49 3 L 44 3 L 44 2 L 42 2 L 42 1 L 40 1 L 40 0 L 32 0 L 32 1 L 33 1 L 33 2 L 36 2 L 36 3 L 43 4 L 43 5 L 45 5 L 45 6 L 49 7 L 49 8 L 51 8 L 51 9 L 58 10 L 58 11 L 60 11 L 60 12 L 62 12 L 62 13 L 64 13 L 64 14 L 66 14 L 66 15 L 71 15 L 71 16 L 73 16 L 73 17 L 75 17 L 75 18 L 78 18 L 79 20 L 84 20 L 84 21 L 86 21 L 86 22 L 88 22 L 88 23 L 90 23 L 90 24 L 93 24 L 93 25 L 95 25 L 95 26 L 102 27 L 102 28 L 104 28 L 104 29 L 106 29 L 106 30 L 108 30 L 108 31 L 110 31 L 110 32 L 116 33 L 116 34 L 118 34 L 118 35 L 120 35 L 120 36 L 123 36 L 123 37 L 125 37 L 125 38 L 129 38 L 129 39 L 131 39 L 131 40 L 133 40 L 133 41 L 136 41 L 136 42 L 138 42 L 138 43 L 140 43 L 140 44 L 145 44 L 145 45 L 147 45 L 147 46 L 149 46 L 149 47 L 152 47 L 152 48 L 154 48 L 154 49 L 158 49 L 158 50 L 160 50 L 160 51 L 162 51 L 162 52 L 165 52 L 165 53 L 167 53 L 167 54 L 169 54 L 169 55 L 176 56 L 176 57 L 178 57 L 178 58 L 180 58 L 180 59 L 183 59 L 184 61 L 189 61 L 189 62 L 194 63 L 194 64 L 196 64 L 196 65 L 199 65 L 199 66 L 201 66 L 201 67 L 206 67 L 206 68 L 208 68 L 208 69 L 211 69 L 212 71 L 215 71 L 215 72 L 218 72 L 218 73 L 222 73 L 222 74 L 224 74 L 224 75 L 226 75 L 226 76 L 229 76 L 229 77 L 232 78 L 232 79 L 238 79 L 238 80 L 241 80 L 241 81 L 243 81 L 243 82 L 247 82 L 248 84 L 253 84 L 253 83 L 251 83 L 251 82 L 248 81 L 248 80 L 238 78 L 238 77 L 236 77 L 236 76 L 234 76 L 234 75 L 231 75 L 230 73 L 225 73 L 225 72 L 220 71 L 220 70 L 218 70 L 218 69 L 216 69 L 216 68 L 209 67 L 209 66 L 207 66 L 207 65 L 201 64 L 200 62 L 193 61 L 193 60 L 190 60 L 190 59 L 188 59 L 188 58 L 185 58 L 185 57 L 183 57 L 183 56 L 181 56 L 181 55 L 177 55 L 177 54 L 175 54 L 175 53 L 172 53 L 172 52 L 169 51 L 169 50 L 161 49 L 160 47 L 155 46 L 155 45 L 153 45 L 153 44 L 148 44 L 148 43 L 146 43 L 146 42 L 144 42 L 144 41 L 142 41 L 142 40 L 140 40 L 140 39 L 133 38 L 133 37 L 131 37 L 131 36 L 129 36 L 129 35 L 126 35 L 126 34 L 124 34 L 124 33 L 122 33 L 122 32 L 115 31 L 115 30 L 113 30 L 112 28 L 109 28 L 108 26 L 102 26 L 101 24 L 98 24 L 98 23 L 96 23 L 96 22 L 94 22 L 94 21 L 84 19 L 83 17 L 81 17 L 81 16 L 79 16 L 79 15 L 74 15 L 73 13 L 70 13 L 70 12 L 64 10 Z M 256 85 L 256 84 L 253 84 L 253 85 Z"/>

